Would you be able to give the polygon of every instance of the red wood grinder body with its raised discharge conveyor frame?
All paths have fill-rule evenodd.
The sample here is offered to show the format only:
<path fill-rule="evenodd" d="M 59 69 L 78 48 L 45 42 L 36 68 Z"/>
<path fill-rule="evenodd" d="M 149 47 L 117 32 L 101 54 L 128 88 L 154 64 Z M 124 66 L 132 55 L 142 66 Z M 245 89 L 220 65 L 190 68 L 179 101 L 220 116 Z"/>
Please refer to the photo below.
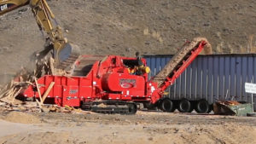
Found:
<path fill-rule="evenodd" d="M 38 78 L 39 89 L 41 94 L 44 94 L 49 84 L 55 82 L 44 103 L 57 104 L 61 107 L 66 105 L 80 107 L 84 102 L 98 100 L 154 104 L 163 97 L 165 89 L 173 84 L 196 55 L 199 55 L 205 44 L 201 42 L 198 48 L 182 61 L 177 70 L 170 72 L 170 77 L 166 78 L 166 82 L 160 87 L 148 80 L 148 73 L 141 70 L 147 66 L 145 59 L 108 55 L 101 60 L 93 61 L 96 55 L 83 55 L 76 62 L 76 67 L 80 66 L 82 70 L 87 67 L 79 72 L 82 75 L 72 77 L 45 75 Z M 93 61 L 93 64 L 83 66 L 83 61 L 85 63 Z M 39 98 L 35 85 L 30 85 L 22 94 L 25 97 Z"/>

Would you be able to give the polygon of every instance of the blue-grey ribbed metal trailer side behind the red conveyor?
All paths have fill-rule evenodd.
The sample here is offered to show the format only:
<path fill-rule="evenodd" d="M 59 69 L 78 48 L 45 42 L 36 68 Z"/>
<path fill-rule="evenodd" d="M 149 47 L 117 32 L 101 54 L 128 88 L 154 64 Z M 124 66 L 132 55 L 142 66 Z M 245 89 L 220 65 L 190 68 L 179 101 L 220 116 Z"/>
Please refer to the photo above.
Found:
<path fill-rule="evenodd" d="M 172 55 L 143 55 L 151 68 L 148 78 L 154 77 Z M 209 104 L 217 100 L 252 102 L 252 94 L 245 92 L 245 83 L 256 84 L 256 54 L 198 55 L 183 74 L 167 90 L 172 100 L 197 101 Z M 254 109 L 256 96 L 253 95 Z"/>

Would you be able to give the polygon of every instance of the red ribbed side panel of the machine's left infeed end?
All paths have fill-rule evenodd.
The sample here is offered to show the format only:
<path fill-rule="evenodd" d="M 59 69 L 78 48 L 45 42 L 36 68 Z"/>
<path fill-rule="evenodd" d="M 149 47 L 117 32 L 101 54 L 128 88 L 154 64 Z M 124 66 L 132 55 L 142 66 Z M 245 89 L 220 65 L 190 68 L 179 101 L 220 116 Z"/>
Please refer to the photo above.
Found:
<path fill-rule="evenodd" d="M 55 82 L 55 85 L 49 91 L 47 98 L 52 98 L 55 100 L 52 102 L 55 102 L 59 106 L 79 107 L 80 101 L 83 101 L 85 98 L 95 97 L 92 93 L 93 86 L 90 78 L 67 78 L 61 76 L 44 76 L 38 78 L 38 86 L 42 96 L 52 82 Z M 38 91 L 35 88 L 35 85 L 30 85 L 23 91 L 23 95 L 25 97 L 39 98 Z"/>

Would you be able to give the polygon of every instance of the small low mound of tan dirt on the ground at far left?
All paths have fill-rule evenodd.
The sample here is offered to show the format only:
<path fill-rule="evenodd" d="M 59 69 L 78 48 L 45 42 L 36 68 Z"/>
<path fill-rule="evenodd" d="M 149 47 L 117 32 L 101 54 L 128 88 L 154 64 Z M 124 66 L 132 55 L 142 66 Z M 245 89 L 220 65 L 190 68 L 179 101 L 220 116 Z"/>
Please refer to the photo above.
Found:
<path fill-rule="evenodd" d="M 3 120 L 21 123 L 21 124 L 38 124 L 41 123 L 40 118 L 26 112 L 9 112 L 6 116 L 0 117 Z"/>

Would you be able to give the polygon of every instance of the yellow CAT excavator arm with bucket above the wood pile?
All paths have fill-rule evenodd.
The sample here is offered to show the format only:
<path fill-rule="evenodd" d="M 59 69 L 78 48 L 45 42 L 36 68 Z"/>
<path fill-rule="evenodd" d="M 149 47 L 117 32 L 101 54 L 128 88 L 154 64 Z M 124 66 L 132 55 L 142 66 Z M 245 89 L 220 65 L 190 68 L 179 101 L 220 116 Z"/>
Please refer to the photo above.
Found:
<path fill-rule="evenodd" d="M 79 56 L 79 48 L 67 42 L 46 0 L 0 0 L 0 15 L 26 4 L 30 5 L 39 29 L 47 33 L 46 39 L 49 39 L 49 44 L 54 48 L 54 58 L 57 63 L 60 65 L 61 63 L 68 65 L 67 61 L 73 63 Z"/>

